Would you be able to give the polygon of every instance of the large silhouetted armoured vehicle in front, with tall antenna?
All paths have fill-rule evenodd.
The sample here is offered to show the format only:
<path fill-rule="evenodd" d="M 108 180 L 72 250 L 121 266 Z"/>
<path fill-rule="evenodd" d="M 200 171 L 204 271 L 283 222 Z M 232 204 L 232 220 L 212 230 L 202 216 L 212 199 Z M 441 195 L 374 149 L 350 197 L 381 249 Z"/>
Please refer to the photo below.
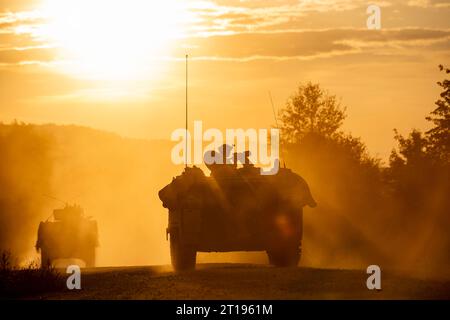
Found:
<path fill-rule="evenodd" d="M 193 269 L 197 252 L 227 251 L 266 251 L 272 265 L 297 265 L 303 207 L 316 206 L 305 180 L 286 168 L 276 175 L 251 164 L 208 168 L 210 177 L 187 167 L 159 192 L 174 269 Z"/>

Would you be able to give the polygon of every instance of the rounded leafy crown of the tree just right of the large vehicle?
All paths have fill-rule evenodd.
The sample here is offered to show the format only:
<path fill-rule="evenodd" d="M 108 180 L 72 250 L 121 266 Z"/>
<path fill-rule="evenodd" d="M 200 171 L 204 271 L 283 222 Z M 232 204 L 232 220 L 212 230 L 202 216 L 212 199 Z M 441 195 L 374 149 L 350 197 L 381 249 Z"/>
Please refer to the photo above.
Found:
<path fill-rule="evenodd" d="M 295 143 L 308 133 L 331 137 L 342 126 L 345 107 L 336 96 L 308 82 L 300 85 L 280 112 L 284 142 Z"/>

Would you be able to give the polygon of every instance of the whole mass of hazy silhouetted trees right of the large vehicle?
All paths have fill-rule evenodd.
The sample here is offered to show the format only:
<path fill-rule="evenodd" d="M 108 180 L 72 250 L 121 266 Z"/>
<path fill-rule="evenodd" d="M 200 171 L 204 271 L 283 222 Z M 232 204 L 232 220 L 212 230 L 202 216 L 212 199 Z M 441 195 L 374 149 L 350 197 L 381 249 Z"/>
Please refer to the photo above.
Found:
<path fill-rule="evenodd" d="M 324 92 L 317 85 L 300 86 L 289 100 L 281 112 L 286 160 L 310 182 L 318 202 L 305 229 L 305 250 L 317 252 L 306 252 L 306 263 L 308 257 L 327 265 L 375 260 L 430 273 L 448 270 L 448 81 L 439 85 L 445 91 L 428 118 L 435 127 L 407 136 L 395 131 L 398 147 L 388 167 L 360 139 L 339 131 L 344 111 L 334 97 L 317 102 Z"/>

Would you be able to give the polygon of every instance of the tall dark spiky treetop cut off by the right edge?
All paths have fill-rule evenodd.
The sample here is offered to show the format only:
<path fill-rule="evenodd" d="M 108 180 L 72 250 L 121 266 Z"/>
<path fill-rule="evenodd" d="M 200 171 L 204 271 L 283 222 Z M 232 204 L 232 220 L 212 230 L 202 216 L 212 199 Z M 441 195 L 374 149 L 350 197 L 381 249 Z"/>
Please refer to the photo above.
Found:
<path fill-rule="evenodd" d="M 440 65 L 439 69 L 450 73 L 450 69 Z M 450 80 L 445 79 L 437 83 L 442 87 L 440 99 L 435 102 L 437 108 L 434 109 L 426 119 L 434 124 L 434 127 L 427 131 L 429 139 L 429 149 L 434 157 L 450 163 Z"/>

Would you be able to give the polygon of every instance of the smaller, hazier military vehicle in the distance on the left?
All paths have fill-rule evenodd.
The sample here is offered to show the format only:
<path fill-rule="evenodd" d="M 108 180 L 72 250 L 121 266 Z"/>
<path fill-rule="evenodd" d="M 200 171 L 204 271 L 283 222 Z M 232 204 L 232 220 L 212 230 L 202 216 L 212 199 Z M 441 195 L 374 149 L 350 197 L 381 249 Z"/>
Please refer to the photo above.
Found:
<path fill-rule="evenodd" d="M 42 267 L 56 259 L 70 258 L 81 259 L 86 267 L 94 267 L 97 246 L 97 222 L 85 217 L 80 206 L 55 209 L 53 221 L 39 224 L 36 249 L 41 252 Z"/>

